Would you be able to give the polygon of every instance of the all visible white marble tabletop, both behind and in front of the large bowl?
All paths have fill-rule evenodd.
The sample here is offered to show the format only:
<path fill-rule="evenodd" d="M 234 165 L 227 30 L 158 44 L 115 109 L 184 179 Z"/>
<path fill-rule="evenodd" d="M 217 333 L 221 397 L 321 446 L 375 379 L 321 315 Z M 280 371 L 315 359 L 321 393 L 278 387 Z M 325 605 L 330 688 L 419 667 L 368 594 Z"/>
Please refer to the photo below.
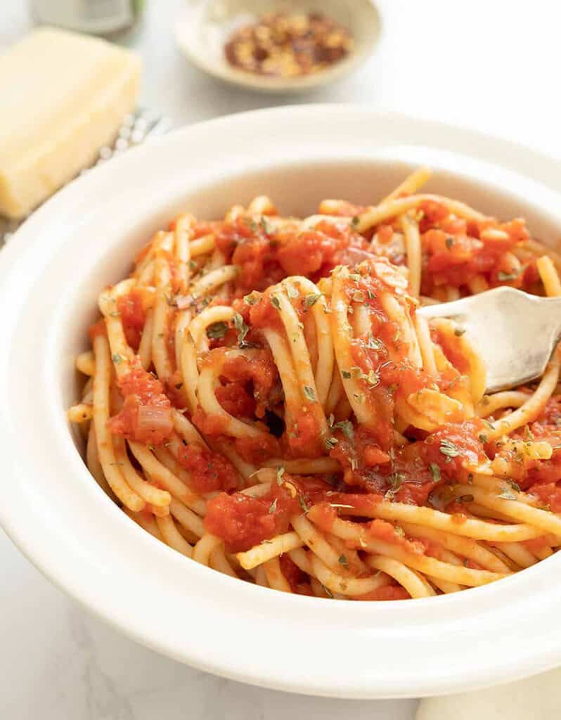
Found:
<path fill-rule="evenodd" d="M 561 10 L 551 0 L 384 0 L 382 42 L 367 65 L 293 99 L 230 89 L 189 67 L 171 37 L 180 2 L 147 0 L 143 28 L 125 39 L 145 60 L 143 103 L 175 125 L 271 104 L 359 102 L 477 127 L 561 158 Z M 24 0 L 0 2 L 0 50 L 30 27 L 25 8 Z M 413 700 L 292 696 L 166 660 L 87 616 L 1 532 L 0 567 L 2 720 L 413 718 Z"/>

